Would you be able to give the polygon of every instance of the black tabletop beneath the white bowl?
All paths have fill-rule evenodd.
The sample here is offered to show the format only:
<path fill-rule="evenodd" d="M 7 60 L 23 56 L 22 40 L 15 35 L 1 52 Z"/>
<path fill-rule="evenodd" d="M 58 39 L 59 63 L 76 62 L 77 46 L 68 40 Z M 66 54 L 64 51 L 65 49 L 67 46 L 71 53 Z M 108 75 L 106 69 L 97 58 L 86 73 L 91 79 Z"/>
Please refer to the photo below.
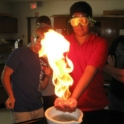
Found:
<path fill-rule="evenodd" d="M 94 114 L 94 113 L 92 113 Z M 85 115 L 84 115 L 85 116 Z M 33 122 L 32 122 L 33 121 Z M 48 124 L 46 118 L 39 118 L 31 121 L 25 121 L 16 124 Z M 65 124 L 64 122 L 62 124 Z M 83 118 L 81 124 L 124 124 L 124 113 L 114 110 L 102 110 L 98 111 L 97 118 L 91 118 L 90 120 Z"/>

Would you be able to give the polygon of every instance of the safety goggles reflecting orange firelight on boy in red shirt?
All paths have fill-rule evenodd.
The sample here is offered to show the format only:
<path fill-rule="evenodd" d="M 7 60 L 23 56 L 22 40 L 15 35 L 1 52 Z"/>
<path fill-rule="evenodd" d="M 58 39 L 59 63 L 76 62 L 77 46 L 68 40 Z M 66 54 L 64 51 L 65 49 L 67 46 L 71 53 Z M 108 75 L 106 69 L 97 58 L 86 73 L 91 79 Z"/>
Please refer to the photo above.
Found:
<path fill-rule="evenodd" d="M 88 26 L 89 23 L 95 22 L 95 20 L 93 20 L 92 18 L 86 18 L 86 17 L 74 17 L 69 22 L 73 27 L 76 27 L 79 24 L 83 27 L 86 27 Z"/>

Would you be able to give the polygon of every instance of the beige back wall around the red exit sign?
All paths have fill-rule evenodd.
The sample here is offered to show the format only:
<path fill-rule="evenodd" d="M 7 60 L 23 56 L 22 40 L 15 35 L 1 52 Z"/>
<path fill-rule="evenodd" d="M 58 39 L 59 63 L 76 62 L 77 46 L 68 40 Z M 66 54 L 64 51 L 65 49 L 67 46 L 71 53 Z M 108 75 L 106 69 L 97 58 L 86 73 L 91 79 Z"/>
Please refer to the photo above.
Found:
<path fill-rule="evenodd" d="M 69 14 L 70 6 L 78 0 L 54 0 L 38 2 L 38 8 L 30 9 L 30 2 L 13 2 L 10 4 L 12 15 L 18 18 L 18 33 L 13 37 L 23 39 L 24 46 L 27 45 L 27 17 L 34 17 L 35 12 L 39 15 Z M 86 0 L 93 9 L 94 16 L 101 16 L 103 10 L 124 10 L 123 0 Z M 1 6 L 1 5 L 0 5 Z M 53 18 L 51 17 L 52 24 Z M 24 37 L 22 37 L 24 36 Z"/>

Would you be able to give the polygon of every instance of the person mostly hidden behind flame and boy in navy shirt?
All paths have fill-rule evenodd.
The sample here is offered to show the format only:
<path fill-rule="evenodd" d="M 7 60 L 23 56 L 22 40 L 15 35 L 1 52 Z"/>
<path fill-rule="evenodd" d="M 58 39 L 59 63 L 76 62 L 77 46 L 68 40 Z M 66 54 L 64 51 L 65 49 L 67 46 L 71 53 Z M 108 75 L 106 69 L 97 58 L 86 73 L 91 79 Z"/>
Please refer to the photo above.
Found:
<path fill-rule="evenodd" d="M 49 28 L 52 28 L 51 20 L 48 16 L 41 15 L 36 19 L 36 26 L 37 27 L 38 26 L 47 26 Z M 30 45 L 31 45 L 31 43 L 28 44 L 28 46 L 30 46 Z M 50 77 L 47 87 L 43 90 L 39 87 L 39 91 L 42 94 L 44 111 L 46 111 L 49 107 L 54 106 L 54 101 L 56 99 L 56 95 L 55 95 L 55 91 L 54 91 L 54 85 L 52 82 L 52 76 Z"/>

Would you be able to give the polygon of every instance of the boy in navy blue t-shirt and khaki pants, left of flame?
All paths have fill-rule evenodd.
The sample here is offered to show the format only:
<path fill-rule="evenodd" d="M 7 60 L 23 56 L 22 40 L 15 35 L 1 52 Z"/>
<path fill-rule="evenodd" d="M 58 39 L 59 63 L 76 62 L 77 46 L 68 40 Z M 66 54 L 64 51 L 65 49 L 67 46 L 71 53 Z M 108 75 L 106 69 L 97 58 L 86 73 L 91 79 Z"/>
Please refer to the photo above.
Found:
<path fill-rule="evenodd" d="M 38 51 L 42 49 L 41 42 L 48 27 L 37 27 L 33 32 L 32 45 L 20 47 L 12 51 L 2 72 L 2 83 L 8 94 L 6 107 L 10 109 L 12 122 L 19 123 L 44 116 L 41 93 L 38 91 L 40 81 L 41 89 L 45 89 L 51 77 L 52 70 L 41 68 Z"/>

